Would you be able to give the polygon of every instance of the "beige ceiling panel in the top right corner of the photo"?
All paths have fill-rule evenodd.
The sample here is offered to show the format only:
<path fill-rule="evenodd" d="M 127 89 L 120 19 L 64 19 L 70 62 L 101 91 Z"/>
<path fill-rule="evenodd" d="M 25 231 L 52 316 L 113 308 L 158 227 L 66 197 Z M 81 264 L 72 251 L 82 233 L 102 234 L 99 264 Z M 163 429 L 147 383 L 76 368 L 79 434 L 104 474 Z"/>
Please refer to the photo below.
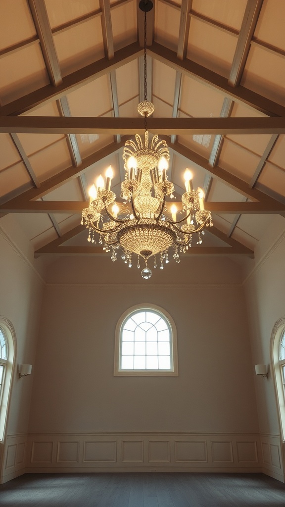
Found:
<path fill-rule="evenodd" d="M 255 30 L 255 37 L 284 51 L 284 15 L 284 0 L 263 2 L 261 16 Z"/>

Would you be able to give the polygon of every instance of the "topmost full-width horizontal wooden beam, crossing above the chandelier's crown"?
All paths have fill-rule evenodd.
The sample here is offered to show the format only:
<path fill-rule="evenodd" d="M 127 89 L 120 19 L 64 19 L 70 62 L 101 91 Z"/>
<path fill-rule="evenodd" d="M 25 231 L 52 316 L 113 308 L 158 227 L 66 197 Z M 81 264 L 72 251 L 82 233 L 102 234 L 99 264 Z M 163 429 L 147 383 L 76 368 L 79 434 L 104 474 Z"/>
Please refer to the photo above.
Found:
<path fill-rule="evenodd" d="M 273 118 L 148 118 L 158 134 L 283 134 L 285 117 Z M 46 134 L 142 134 L 142 118 L 0 116 L 0 132 Z"/>

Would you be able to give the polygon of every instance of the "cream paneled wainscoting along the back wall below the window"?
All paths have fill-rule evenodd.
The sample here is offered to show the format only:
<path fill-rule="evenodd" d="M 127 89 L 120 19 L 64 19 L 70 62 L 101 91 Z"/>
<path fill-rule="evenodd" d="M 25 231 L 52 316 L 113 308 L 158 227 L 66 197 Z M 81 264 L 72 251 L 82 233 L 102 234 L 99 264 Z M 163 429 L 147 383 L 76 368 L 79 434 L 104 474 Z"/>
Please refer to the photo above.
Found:
<path fill-rule="evenodd" d="M 30 434 L 25 462 L 26 472 L 262 472 L 262 466 L 259 435 L 237 433 Z"/>

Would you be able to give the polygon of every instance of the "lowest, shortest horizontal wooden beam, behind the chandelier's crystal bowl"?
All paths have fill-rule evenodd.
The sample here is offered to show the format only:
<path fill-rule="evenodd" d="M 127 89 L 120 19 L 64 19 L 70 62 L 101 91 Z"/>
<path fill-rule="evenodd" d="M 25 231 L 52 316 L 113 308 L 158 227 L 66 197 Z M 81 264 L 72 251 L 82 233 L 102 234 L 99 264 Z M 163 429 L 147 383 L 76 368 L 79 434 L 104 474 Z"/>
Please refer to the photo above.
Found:
<path fill-rule="evenodd" d="M 86 240 L 87 241 L 87 240 Z M 53 246 L 53 245 L 47 245 L 43 248 L 40 248 L 39 250 L 36 250 L 34 252 L 34 257 L 37 258 L 39 256 L 44 255 L 63 255 L 63 256 L 70 256 L 70 255 L 106 255 L 102 247 L 93 246 L 93 245 L 86 245 L 86 246 Z M 199 257 L 225 257 L 225 256 L 243 256 L 243 257 L 253 257 L 254 253 L 248 253 L 247 250 L 244 250 L 242 247 L 237 246 L 191 246 L 187 250 L 187 253 L 185 253 L 185 256 L 187 255 L 194 255 Z"/>

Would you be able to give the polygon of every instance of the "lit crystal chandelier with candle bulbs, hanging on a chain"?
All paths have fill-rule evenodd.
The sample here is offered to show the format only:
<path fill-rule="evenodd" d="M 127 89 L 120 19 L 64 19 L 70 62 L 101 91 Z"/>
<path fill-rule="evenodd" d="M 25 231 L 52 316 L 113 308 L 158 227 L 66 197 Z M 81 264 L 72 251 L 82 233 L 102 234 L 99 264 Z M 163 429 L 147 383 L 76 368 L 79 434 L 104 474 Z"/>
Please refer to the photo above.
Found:
<path fill-rule="evenodd" d="M 184 173 L 186 192 L 182 195 L 184 216 L 177 220 L 177 208 L 168 209 L 168 198 L 173 198 L 174 185 L 167 178 L 169 151 L 165 140 L 157 135 L 150 138 L 147 118 L 154 112 L 154 105 L 147 100 L 147 22 L 146 13 L 152 9 L 150 0 L 141 0 L 139 8 L 145 12 L 145 99 L 138 104 L 138 113 L 145 118 L 145 135 L 138 134 L 135 140 L 127 140 L 123 150 L 125 180 L 121 184 L 122 203 L 116 203 L 116 194 L 111 190 L 113 170 L 110 166 L 106 178 L 100 175 L 96 186 L 89 190 L 89 206 L 82 211 L 81 224 L 89 229 L 88 241 L 94 243 L 99 234 L 99 244 L 105 252 L 112 251 L 116 261 L 118 250 L 123 261 L 132 266 L 132 257 L 137 257 L 137 267 L 144 264 L 143 278 L 152 272 L 149 259 L 157 256 L 160 268 L 168 263 L 169 248 L 173 259 L 180 262 L 180 253 L 191 247 L 192 236 L 197 234 L 197 243 L 202 243 L 204 228 L 212 226 L 211 213 L 204 209 L 202 189 L 193 189 L 192 173 Z"/>

